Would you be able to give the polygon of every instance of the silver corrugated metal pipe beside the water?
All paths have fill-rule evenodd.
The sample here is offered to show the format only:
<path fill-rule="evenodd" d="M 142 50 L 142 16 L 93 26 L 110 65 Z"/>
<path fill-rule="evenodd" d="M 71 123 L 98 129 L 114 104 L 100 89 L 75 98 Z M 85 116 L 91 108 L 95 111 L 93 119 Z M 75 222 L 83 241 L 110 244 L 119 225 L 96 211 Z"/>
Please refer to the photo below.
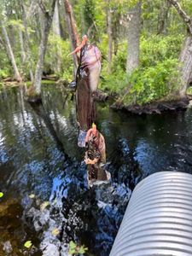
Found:
<path fill-rule="evenodd" d="M 192 175 L 157 172 L 133 190 L 110 256 L 192 256 Z"/>

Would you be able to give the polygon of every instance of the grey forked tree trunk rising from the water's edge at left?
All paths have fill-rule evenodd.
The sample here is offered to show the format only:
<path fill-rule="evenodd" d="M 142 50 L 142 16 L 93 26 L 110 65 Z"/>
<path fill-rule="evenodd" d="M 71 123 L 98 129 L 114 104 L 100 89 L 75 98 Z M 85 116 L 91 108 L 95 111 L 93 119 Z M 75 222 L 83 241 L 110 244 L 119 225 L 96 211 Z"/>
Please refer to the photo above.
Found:
<path fill-rule="evenodd" d="M 35 79 L 33 83 L 33 88 L 35 90 L 35 94 L 40 96 L 41 94 L 41 79 L 42 79 L 42 74 L 44 70 L 44 56 L 46 53 L 46 48 L 47 48 L 47 42 L 48 42 L 48 37 L 49 37 L 49 30 L 50 26 L 53 20 L 53 15 L 54 15 L 54 10 L 55 10 L 55 2 L 56 0 L 52 1 L 51 4 L 51 9 L 48 12 L 44 4 L 40 1 L 39 6 L 42 11 L 42 18 L 43 18 L 43 24 L 42 24 L 42 30 L 41 30 L 41 41 L 40 45 L 38 48 L 38 63 L 36 66 L 36 71 L 35 71 Z"/>

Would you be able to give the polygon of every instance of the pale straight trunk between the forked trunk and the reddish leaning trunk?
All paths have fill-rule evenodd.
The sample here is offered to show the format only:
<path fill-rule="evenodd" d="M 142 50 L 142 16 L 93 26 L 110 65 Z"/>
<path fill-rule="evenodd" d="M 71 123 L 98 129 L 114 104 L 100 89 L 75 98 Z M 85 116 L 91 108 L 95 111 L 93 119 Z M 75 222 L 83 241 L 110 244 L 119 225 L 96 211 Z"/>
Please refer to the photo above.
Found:
<path fill-rule="evenodd" d="M 53 32 L 58 38 L 61 38 L 58 4 L 59 3 L 57 0 L 55 3 L 55 12 L 54 12 L 54 16 L 53 16 Z M 55 72 L 60 73 L 61 72 L 61 47 L 60 47 L 60 45 L 57 45 L 55 55 L 56 55 L 56 65 L 54 65 Z"/>

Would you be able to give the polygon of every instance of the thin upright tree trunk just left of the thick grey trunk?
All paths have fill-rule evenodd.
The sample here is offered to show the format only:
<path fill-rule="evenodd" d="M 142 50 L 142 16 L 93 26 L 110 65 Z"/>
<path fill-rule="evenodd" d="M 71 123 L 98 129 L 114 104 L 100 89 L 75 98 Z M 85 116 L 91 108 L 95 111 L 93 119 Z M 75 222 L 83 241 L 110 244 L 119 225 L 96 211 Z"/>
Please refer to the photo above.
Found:
<path fill-rule="evenodd" d="M 110 0 L 108 1 L 110 4 Z M 113 37 L 112 37 L 112 10 L 108 7 L 108 73 L 111 73 L 111 63 L 113 54 Z"/>

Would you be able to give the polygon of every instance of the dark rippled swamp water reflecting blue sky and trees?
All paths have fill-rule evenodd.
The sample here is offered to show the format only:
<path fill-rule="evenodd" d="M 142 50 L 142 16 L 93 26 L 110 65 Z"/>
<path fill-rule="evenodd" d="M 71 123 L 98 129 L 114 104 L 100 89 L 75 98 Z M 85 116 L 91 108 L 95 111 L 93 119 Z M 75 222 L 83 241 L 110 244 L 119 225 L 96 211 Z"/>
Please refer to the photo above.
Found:
<path fill-rule="evenodd" d="M 112 183 L 87 189 L 74 106 L 60 86 L 44 85 L 39 108 L 20 88 L 0 91 L 0 255 L 63 256 L 75 241 L 107 256 L 143 177 L 192 173 L 192 109 L 136 116 L 97 103 Z"/>

